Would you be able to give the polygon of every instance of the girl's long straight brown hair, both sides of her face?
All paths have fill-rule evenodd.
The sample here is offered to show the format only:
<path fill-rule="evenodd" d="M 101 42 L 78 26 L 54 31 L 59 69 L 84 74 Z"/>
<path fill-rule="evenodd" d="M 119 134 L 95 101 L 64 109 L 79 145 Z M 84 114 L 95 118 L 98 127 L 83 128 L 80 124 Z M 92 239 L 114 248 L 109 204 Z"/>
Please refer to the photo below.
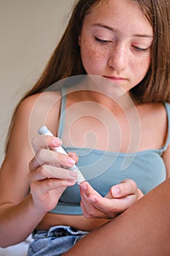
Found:
<path fill-rule="evenodd" d="M 98 4 L 108 0 L 79 0 L 74 6 L 66 31 L 53 51 L 50 60 L 34 87 L 23 97 L 42 92 L 53 83 L 74 75 L 85 75 L 80 56 L 78 37 L 81 33 L 85 16 Z M 170 102 L 170 21 L 169 0 L 131 0 L 150 22 L 154 40 L 151 50 L 150 69 L 144 79 L 131 89 L 131 95 L 137 102 Z M 89 74 L 90 75 L 90 74 Z M 23 100 L 21 99 L 20 102 Z M 20 105 L 20 102 L 18 105 Z M 15 113 L 12 116 L 13 124 Z M 8 136 L 9 138 L 9 136 Z"/>

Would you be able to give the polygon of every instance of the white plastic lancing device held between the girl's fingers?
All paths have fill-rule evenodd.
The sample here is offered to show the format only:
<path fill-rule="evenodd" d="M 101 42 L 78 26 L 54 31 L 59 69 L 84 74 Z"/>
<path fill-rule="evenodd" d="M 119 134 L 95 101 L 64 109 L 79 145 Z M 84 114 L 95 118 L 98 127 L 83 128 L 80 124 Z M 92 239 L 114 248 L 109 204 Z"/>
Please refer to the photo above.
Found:
<path fill-rule="evenodd" d="M 47 127 L 41 127 L 38 130 L 39 135 L 50 135 L 50 136 L 54 136 L 52 132 L 50 132 L 49 129 L 47 129 Z M 58 147 L 50 147 L 53 151 L 56 151 L 58 153 L 61 154 L 66 154 L 68 156 L 68 154 L 66 153 L 66 151 L 62 148 L 62 146 L 58 146 Z M 78 176 L 77 176 L 77 184 L 80 185 L 80 183 L 82 181 L 85 181 L 85 177 L 82 175 L 82 173 L 80 172 L 79 168 L 76 165 L 73 165 L 72 167 L 68 167 L 69 170 L 74 170 L 74 172 L 77 172 Z"/>

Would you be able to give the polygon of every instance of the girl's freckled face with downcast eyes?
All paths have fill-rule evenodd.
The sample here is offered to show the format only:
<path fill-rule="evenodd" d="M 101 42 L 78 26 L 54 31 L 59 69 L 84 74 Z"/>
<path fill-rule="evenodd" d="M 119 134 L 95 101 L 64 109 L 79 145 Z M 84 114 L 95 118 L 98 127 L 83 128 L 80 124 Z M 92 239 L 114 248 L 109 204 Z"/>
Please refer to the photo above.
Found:
<path fill-rule="evenodd" d="M 152 26 L 131 0 L 100 1 L 82 26 L 82 64 L 88 75 L 129 91 L 147 74 L 152 39 Z"/>

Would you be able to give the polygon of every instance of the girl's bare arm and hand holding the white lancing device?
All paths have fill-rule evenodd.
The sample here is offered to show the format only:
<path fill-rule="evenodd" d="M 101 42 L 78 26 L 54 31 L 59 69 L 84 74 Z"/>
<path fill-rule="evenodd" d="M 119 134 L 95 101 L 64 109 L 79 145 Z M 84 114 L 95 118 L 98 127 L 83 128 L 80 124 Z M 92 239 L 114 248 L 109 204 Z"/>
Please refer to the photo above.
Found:
<path fill-rule="evenodd" d="M 54 140 L 51 136 L 47 138 L 37 136 L 39 127 L 45 124 L 45 118 L 53 132 L 54 124 L 57 124 L 53 114 L 49 113 L 51 117 L 47 118 L 49 108 L 53 104 L 52 100 L 47 101 L 49 102 L 47 108 L 43 97 L 43 105 L 39 105 L 41 108 L 34 110 L 37 100 L 38 96 L 34 95 L 20 104 L 12 127 L 7 154 L 1 166 L 1 247 L 23 241 L 45 217 L 47 211 L 58 203 L 63 190 L 75 184 L 77 178 L 72 176 L 73 171 L 63 172 L 63 169 L 58 167 L 61 164 L 71 166 L 67 161 L 70 157 L 47 149 L 48 146 L 60 146 L 60 140 Z M 36 138 L 32 147 L 31 140 L 34 136 Z"/>

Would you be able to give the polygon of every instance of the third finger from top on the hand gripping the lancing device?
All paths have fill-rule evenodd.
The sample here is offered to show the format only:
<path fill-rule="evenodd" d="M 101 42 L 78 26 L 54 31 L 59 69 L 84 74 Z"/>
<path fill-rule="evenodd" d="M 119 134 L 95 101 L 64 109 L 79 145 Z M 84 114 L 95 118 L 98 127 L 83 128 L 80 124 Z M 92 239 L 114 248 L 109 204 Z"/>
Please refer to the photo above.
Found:
<path fill-rule="evenodd" d="M 45 178 L 59 178 L 63 180 L 76 181 L 77 173 L 74 170 L 66 170 L 61 167 L 42 165 L 29 173 L 29 181 L 42 181 Z"/>

